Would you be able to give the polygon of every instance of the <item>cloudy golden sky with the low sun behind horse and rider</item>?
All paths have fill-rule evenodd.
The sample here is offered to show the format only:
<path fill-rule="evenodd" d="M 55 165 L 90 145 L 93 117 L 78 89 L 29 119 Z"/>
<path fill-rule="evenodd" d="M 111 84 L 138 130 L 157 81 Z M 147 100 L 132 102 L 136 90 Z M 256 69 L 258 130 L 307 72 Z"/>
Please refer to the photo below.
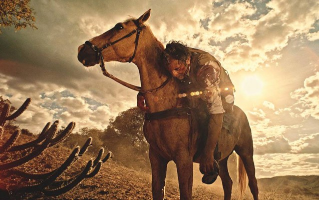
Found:
<path fill-rule="evenodd" d="M 182 40 L 214 55 L 248 116 L 257 178 L 319 175 L 319 1 L 31 0 L 38 29 L 2 28 L 0 95 L 19 107 L 21 128 L 49 121 L 106 128 L 136 106 L 136 91 L 77 60 L 78 46 L 151 8 L 147 24 L 166 44 Z M 140 85 L 133 63 L 106 63 Z"/>

